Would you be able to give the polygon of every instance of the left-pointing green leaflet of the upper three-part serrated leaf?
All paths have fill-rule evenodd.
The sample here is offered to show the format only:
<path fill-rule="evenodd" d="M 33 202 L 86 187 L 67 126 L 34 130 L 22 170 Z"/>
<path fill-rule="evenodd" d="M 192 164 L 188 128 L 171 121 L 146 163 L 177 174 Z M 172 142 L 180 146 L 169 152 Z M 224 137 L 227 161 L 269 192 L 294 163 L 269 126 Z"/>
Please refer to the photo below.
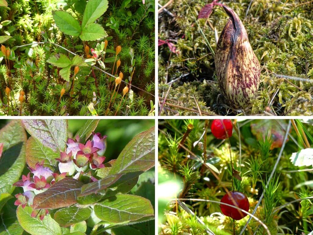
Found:
<path fill-rule="evenodd" d="M 81 33 L 81 26 L 79 22 L 66 11 L 54 11 L 52 12 L 54 22 L 58 26 L 59 30 L 64 34 L 71 36 L 79 36 Z"/>

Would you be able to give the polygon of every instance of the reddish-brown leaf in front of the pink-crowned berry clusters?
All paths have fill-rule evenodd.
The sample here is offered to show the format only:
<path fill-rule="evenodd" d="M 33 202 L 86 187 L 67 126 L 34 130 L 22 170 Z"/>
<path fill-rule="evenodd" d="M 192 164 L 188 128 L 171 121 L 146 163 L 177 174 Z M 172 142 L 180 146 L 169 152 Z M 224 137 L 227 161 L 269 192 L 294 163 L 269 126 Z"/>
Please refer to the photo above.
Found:
<path fill-rule="evenodd" d="M 54 183 L 48 190 L 37 194 L 33 200 L 34 209 L 57 209 L 76 203 L 83 183 L 74 178 L 64 178 Z"/>

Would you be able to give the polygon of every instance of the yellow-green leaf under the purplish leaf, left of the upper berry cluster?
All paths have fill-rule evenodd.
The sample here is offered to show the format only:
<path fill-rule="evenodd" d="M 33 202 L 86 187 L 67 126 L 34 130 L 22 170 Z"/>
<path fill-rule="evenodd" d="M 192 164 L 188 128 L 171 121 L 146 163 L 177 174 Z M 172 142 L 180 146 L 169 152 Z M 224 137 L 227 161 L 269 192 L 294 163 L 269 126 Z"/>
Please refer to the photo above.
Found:
<path fill-rule="evenodd" d="M 35 168 L 37 162 L 44 161 L 44 165 L 52 170 L 56 169 L 60 153 L 54 152 L 52 149 L 45 147 L 35 138 L 30 137 L 26 143 L 26 162 L 29 167 Z"/>

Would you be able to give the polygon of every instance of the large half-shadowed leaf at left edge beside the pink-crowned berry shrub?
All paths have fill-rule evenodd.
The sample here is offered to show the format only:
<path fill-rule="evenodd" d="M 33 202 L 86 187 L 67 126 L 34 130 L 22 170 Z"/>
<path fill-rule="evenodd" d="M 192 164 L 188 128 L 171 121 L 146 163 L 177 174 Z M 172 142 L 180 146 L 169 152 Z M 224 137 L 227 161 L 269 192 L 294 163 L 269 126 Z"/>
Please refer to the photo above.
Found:
<path fill-rule="evenodd" d="M 3 153 L 0 158 L 0 193 L 12 193 L 25 166 L 26 132 L 20 120 L 13 120 L 0 130 Z"/>

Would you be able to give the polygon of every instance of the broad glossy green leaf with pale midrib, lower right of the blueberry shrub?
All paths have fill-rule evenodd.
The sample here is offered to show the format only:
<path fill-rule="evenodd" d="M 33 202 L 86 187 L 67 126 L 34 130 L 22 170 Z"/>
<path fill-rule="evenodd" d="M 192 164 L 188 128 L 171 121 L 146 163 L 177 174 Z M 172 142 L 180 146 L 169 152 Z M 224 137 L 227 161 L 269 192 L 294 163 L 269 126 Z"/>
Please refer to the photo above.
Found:
<path fill-rule="evenodd" d="M 114 224 L 151 217 L 154 213 L 149 200 L 130 194 L 118 194 L 107 198 L 96 204 L 94 210 L 101 220 Z"/>

